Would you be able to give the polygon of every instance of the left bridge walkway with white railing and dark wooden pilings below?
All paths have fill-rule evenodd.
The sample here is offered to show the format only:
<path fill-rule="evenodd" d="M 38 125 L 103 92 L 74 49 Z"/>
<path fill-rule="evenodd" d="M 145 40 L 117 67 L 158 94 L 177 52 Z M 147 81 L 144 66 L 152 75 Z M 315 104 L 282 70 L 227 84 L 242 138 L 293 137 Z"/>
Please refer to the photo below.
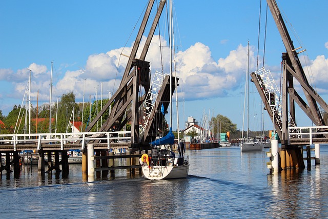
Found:
<path fill-rule="evenodd" d="M 0 172 L 6 170 L 7 175 L 14 171 L 15 176 L 19 176 L 20 169 L 24 163 L 24 151 L 33 151 L 37 156 L 37 169 L 41 174 L 51 173 L 53 170 L 62 172 L 63 175 L 69 173 L 68 152 L 70 150 L 80 150 L 82 153 L 82 172 L 88 174 L 87 143 L 93 142 L 94 161 L 96 174 L 100 171 L 111 177 L 114 176 L 115 169 L 141 168 L 137 160 L 141 157 L 140 151 L 133 150 L 130 144 L 129 131 L 122 132 L 87 132 L 87 133 L 45 133 L 45 134 L 12 134 L 0 135 L 0 160 L 5 154 L 5 164 L 0 163 Z M 96 140 L 96 143 L 94 141 Z M 124 155 L 116 155 L 113 150 L 125 149 Z M 31 153 L 31 152 L 30 152 Z M 28 155 L 28 153 L 27 153 Z M 30 154 L 30 157 L 32 155 Z M 127 166 L 114 166 L 114 160 L 119 158 L 127 159 Z M 13 166 L 13 168 L 12 168 Z M 60 168 L 61 166 L 61 168 Z M 106 173 L 107 171 L 107 173 Z"/>

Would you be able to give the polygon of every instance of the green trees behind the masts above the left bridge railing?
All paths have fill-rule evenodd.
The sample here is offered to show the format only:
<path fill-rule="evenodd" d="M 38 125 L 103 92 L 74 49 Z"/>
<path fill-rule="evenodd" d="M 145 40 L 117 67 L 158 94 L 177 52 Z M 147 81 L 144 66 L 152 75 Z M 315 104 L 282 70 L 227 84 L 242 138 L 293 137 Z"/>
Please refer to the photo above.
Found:
<path fill-rule="evenodd" d="M 102 105 L 107 104 L 109 99 L 103 99 Z M 1 134 L 24 134 L 24 133 L 49 133 L 49 104 L 41 106 L 31 106 L 28 112 L 27 106 L 14 105 L 7 116 L 4 116 L 0 110 L 0 120 L 4 123 L 0 127 Z M 101 110 L 101 101 L 93 101 L 93 103 L 76 103 L 75 94 L 70 91 L 63 94 L 58 103 L 51 105 L 52 112 L 52 133 L 71 132 L 72 128 L 69 125 L 74 122 L 83 122 L 83 127 L 78 127 L 83 132 L 88 124 L 93 120 Z M 29 113 L 31 114 L 31 130 L 29 130 Z M 103 114 L 103 120 L 107 120 L 109 109 Z M 36 120 L 38 118 L 38 120 Z M 101 124 L 98 123 L 98 128 Z M 91 131 L 95 131 L 97 127 L 93 127 Z"/>

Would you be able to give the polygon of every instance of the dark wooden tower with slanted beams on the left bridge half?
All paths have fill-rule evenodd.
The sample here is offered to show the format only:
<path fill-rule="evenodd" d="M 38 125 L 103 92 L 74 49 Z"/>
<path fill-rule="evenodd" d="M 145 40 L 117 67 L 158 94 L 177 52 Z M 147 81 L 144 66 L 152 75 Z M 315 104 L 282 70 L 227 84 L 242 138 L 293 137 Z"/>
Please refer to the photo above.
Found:
<path fill-rule="evenodd" d="M 130 121 L 131 142 L 129 143 L 129 148 L 135 150 L 149 149 L 148 143 L 155 140 L 158 126 L 161 124 L 162 120 L 162 117 L 160 116 L 161 104 L 163 104 L 165 110 L 167 110 L 169 106 L 170 82 L 168 77 L 163 79 L 163 83 L 160 88 L 160 92 L 158 92 L 159 95 L 156 98 L 155 105 L 148 106 L 147 102 L 149 99 L 147 98 L 149 97 L 147 97 L 146 94 L 151 89 L 151 76 L 150 63 L 145 61 L 145 57 L 165 4 L 166 0 L 160 1 L 149 34 L 147 36 L 146 44 L 144 48 L 139 48 L 141 37 L 145 32 L 151 10 L 154 7 L 154 0 L 149 1 L 147 10 L 141 22 L 140 29 L 129 56 L 127 67 L 125 69 L 124 75 L 122 76 L 121 83 L 117 91 L 109 99 L 109 102 L 103 107 L 103 109 L 101 109 L 101 111 L 96 115 L 94 120 L 87 127 L 86 132 L 89 132 L 97 124 L 104 112 L 108 110 L 110 106 L 112 106 L 112 110 L 107 121 L 102 124 L 99 131 L 121 130 Z M 140 57 L 136 58 L 136 53 L 139 49 L 142 49 L 142 52 Z M 175 86 L 173 85 L 172 87 L 172 90 L 174 91 Z M 143 93 L 145 94 L 142 97 L 138 96 L 140 89 L 144 89 Z M 152 115 L 150 116 L 152 120 L 149 121 L 148 128 L 145 130 L 144 134 L 140 136 L 139 125 L 142 123 L 142 121 L 141 115 L 139 113 L 140 108 L 142 108 L 142 105 L 145 106 L 145 103 L 147 105 L 146 107 L 155 107 L 155 109 L 152 110 Z M 127 111 L 127 109 L 130 107 L 131 111 Z M 128 112 L 127 116 L 125 116 L 126 112 Z"/>

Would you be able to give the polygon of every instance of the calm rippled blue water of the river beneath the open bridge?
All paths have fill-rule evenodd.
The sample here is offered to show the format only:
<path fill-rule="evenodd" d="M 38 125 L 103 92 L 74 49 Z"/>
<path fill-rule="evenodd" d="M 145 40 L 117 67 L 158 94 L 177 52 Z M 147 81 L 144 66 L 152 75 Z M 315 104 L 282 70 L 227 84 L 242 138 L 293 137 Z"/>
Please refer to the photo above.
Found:
<path fill-rule="evenodd" d="M 240 148 L 188 151 L 187 179 L 148 181 L 116 172 L 115 180 L 84 182 L 36 167 L 0 181 L 1 218 L 327 218 L 328 146 L 311 171 L 269 175 L 264 152 Z M 313 161 L 314 162 L 314 161 Z M 305 164 L 306 165 L 306 164 Z"/>

